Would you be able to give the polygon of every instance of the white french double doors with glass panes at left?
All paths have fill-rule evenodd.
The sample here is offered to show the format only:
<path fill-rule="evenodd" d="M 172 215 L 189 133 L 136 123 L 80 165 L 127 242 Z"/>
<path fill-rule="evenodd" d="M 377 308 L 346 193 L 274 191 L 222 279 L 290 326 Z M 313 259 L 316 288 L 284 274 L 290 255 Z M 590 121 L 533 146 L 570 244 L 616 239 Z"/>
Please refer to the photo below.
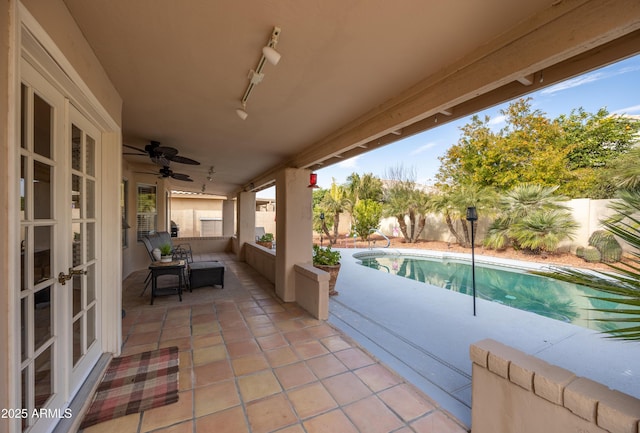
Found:
<path fill-rule="evenodd" d="M 29 414 L 60 413 L 101 354 L 100 134 L 26 60 L 21 83 L 20 401 Z M 22 431 L 59 419 L 24 417 Z"/>

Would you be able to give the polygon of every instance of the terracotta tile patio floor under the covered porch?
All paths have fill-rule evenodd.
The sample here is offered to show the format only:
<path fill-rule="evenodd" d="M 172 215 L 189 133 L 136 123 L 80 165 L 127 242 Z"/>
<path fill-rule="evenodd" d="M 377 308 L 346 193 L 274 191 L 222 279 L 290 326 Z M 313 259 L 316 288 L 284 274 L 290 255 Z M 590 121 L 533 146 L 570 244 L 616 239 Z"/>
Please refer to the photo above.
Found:
<path fill-rule="evenodd" d="M 180 349 L 179 401 L 85 433 L 462 433 L 466 429 L 330 324 L 275 298 L 273 285 L 232 255 L 225 288 L 140 296 L 124 282 L 122 355 Z"/>

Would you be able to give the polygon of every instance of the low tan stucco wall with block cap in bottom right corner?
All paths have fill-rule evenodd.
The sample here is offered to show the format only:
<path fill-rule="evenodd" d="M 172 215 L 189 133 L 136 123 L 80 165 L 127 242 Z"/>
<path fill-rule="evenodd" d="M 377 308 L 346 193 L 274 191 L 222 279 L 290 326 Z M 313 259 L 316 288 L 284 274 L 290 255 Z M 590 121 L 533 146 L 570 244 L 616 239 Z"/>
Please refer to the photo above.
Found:
<path fill-rule="evenodd" d="M 634 397 L 494 340 L 470 356 L 473 433 L 639 433 Z"/>

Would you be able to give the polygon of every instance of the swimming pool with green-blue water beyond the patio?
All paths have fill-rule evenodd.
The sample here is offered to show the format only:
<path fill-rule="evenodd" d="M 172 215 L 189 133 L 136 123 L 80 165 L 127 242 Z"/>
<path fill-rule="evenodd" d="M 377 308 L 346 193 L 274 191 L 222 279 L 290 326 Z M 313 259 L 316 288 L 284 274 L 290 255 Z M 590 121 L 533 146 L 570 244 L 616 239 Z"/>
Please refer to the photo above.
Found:
<path fill-rule="evenodd" d="M 360 265 L 369 268 L 466 295 L 473 294 L 471 262 L 462 257 L 437 258 L 375 251 L 356 253 L 354 257 Z M 513 265 L 476 261 L 475 273 L 479 299 L 598 331 L 612 328 L 615 322 L 595 319 L 620 318 L 617 314 L 592 311 L 593 308 L 616 308 L 618 304 L 592 299 L 599 293 L 585 286 L 533 275 L 528 269 Z"/>

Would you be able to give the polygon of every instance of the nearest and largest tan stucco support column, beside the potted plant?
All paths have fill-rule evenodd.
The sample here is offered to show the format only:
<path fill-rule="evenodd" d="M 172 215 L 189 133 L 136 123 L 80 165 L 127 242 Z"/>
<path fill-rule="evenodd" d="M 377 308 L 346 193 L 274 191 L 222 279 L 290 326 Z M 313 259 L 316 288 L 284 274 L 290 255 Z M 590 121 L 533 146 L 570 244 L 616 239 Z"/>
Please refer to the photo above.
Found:
<path fill-rule="evenodd" d="M 312 189 L 309 170 L 285 168 L 276 175 L 276 294 L 295 301 L 296 263 L 311 263 Z"/>

